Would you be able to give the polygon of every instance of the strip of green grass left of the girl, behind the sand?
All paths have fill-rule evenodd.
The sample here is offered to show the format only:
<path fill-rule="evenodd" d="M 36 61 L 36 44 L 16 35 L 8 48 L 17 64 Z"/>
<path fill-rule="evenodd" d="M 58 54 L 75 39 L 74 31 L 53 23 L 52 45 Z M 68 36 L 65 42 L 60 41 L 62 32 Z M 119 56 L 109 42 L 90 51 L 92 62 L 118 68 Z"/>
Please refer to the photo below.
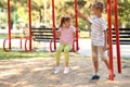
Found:
<path fill-rule="evenodd" d="M 28 58 L 50 58 L 53 57 L 51 52 L 4 52 L 3 49 L 0 49 L 0 60 L 4 59 L 28 59 Z"/>

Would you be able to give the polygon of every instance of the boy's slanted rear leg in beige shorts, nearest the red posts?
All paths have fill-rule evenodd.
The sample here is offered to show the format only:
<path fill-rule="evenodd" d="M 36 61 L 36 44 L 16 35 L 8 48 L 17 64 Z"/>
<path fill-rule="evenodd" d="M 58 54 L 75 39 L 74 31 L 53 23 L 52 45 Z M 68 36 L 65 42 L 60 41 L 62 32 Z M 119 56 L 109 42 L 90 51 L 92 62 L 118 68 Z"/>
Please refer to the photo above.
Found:
<path fill-rule="evenodd" d="M 101 60 L 104 61 L 106 67 L 109 70 L 109 63 L 108 63 L 108 60 L 107 60 L 107 58 L 105 55 L 104 47 L 103 46 L 99 46 L 98 50 L 99 50 Z"/>

